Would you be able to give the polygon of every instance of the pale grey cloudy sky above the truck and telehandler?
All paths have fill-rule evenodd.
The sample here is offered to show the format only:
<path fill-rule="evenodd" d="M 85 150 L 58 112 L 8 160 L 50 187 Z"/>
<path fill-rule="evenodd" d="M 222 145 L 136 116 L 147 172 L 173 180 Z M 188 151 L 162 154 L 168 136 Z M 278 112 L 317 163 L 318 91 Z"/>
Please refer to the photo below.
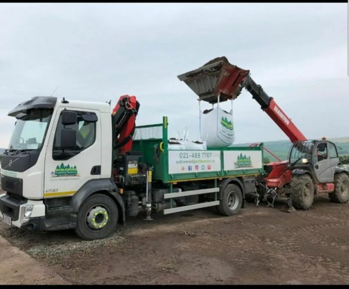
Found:
<path fill-rule="evenodd" d="M 55 96 L 112 106 L 136 95 L 138 125 L 166 115 L 172 133 L 188 127 L 196 139 L 196 95 L 176 76 L 223 55 L 308 138 L 349 135 L 346 3 L 1 3 L 0 39 L 0 147 L 14 126 L 7 112 L 55 87 Z M 234 123 L 236 143 L 287 139 L 245 91 Z"/>

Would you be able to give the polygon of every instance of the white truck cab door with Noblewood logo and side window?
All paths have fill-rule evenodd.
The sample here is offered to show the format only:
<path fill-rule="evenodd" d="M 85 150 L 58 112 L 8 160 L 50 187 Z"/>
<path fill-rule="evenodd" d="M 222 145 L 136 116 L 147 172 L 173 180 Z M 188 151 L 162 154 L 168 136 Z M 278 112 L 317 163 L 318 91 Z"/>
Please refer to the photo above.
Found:
<path fill-rule="evenodd" d="M 99 179 L 101 175 L 101 121 L 100 112 L 72 110 L 77 113 L 77 123 L 65 126 L 76 131 L 76 147 L 61 149 L 61 112 L 54 118 L 45 157 L 44 198 L 72 196 L 84 183 Z M 69 109 L 68 109 L 69 110 Z M 85 123 L 82 114 L 95 114 L 96 123 Z"/>

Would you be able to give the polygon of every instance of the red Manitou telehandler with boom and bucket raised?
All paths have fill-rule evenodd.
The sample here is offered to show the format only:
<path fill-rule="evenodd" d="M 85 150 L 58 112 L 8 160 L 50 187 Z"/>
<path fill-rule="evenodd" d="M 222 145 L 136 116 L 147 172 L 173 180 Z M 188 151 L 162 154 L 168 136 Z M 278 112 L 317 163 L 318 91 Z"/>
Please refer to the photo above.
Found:
<path fill-rule="evenodd" d="M 255 83 L 249 70 L 230 64 L 226 57 L 217 57 L 178 78 L 200 100 L 212 104 L 217 96 L 221 101 L 234 100 L 245 88 L 291 140 L 292 147 L 286 161 L 265 165 L 265 174 L 258 180 L 259 199 L 266 194 L 268 205 L 273 206 L 275 198 L 278 198 L 289 206 L 289 212 L 294 211 L 294 207 L 309 209 L 314 195 L 318 193 L 328 193 L 332 202 L 349 201 L 349 174 L 337 166 L 339 157 L 336 145 L 325 138 L 307 140 L 273 97 Z M 283 194 L 286 197 L 281 197 Z"/>

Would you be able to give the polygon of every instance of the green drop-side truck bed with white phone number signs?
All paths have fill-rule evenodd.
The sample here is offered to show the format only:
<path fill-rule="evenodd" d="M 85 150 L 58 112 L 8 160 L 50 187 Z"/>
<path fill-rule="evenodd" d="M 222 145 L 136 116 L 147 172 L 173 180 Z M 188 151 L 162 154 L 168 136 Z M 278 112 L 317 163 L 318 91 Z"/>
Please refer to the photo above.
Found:
<path fill-rule="evenodd" d="M 166 116 L 162 124 L 136 127 L 133 150 L 143 153 L 140 161 L 153 165 L 153 180 L 163 183 L 263 173 L 262 146 L 169 150 Z"/>

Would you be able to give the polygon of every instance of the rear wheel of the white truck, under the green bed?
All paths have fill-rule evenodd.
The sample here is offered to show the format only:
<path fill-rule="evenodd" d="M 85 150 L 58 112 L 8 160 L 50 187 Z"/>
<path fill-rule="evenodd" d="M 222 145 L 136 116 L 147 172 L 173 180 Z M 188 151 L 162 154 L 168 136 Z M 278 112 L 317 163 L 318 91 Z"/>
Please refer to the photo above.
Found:
<path fill-rule="evenodd" d="M 241 189 L 230 183 L 220 194 L 220 204 L 216 206 L 218 213 L 223 216 L 233 216 L 240 212 L 242 205 Z"/>

